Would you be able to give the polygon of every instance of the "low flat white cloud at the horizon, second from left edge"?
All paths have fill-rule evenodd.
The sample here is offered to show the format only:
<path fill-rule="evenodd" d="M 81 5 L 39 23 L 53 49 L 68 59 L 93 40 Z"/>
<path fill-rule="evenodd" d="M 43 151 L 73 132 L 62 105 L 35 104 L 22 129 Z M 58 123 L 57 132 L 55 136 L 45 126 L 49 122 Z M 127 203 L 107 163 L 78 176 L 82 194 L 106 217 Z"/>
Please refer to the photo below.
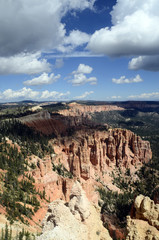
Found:
<path fill-rule="evenodd" d="M 41 94 L 41 99 L 66 99 L 70 95 L 70 92 L 66 93 L 60 93 L 56 91 L 49 92 L 48 90 L 45 90 Z"/>

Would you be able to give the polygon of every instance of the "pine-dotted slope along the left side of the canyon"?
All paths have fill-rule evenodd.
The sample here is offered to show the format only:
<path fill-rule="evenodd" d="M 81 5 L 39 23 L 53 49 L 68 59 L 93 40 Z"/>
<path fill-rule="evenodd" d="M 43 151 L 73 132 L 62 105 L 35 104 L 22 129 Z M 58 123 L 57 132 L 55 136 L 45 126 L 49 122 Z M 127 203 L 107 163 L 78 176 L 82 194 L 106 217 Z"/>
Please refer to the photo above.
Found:
<path fill-rule="evenodd" d="M 21 151 L 8 144 L 6 137 L 18 143 Z M 27 174 L 29 167 L 36 166 L 29 165 L 26 157 L 31 154 L 43 157 L 46 153 L 53 153 L 47 137 L 14 119 L 0 123 L 0 169 L 3 170 L 0 204 L 6 208 L 11 223 L 17 219 L 27 223 L 27 218 L 32 218 L 39 209 L 38 196 L 43 197 L 43 194 L 36 191 L 33 177 Z"/>

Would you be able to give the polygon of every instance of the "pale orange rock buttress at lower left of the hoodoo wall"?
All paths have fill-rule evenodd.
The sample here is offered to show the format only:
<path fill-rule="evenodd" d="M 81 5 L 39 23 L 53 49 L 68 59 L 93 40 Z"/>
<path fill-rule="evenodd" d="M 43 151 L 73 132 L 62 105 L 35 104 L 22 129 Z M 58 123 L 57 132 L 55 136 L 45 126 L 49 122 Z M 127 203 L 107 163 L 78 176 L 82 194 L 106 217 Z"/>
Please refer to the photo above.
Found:
<path fill-rule="evenodd" d="M 35 179 L 37 191 L 41 193 L 45 191 L 46 198 L 49 201 L 56 199 L 68 201 L 74 180 L 64 178 L 53 171 L 53 164 L 49 156 L 46 159 L 32 156 L 30 161 L 37 166 L 29 172 Z"/>

